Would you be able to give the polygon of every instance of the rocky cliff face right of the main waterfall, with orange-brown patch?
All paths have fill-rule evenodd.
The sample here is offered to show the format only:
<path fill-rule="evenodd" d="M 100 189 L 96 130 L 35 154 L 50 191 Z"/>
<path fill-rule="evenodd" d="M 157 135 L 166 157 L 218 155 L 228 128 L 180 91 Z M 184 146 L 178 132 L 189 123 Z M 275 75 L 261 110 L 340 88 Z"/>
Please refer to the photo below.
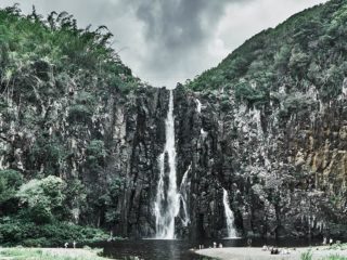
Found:
<path fill-rule="evenodd" d="M 286 117 L 281 105 L 240 104 L 232 91 L 177 90 L 178 168 L 192 165 L 192 235 L 227 235 L 224 187 L 240 234 L 344 236 L 346 96 L 324 104 L 312 91 L 297 93 L 312 106 Z"/>

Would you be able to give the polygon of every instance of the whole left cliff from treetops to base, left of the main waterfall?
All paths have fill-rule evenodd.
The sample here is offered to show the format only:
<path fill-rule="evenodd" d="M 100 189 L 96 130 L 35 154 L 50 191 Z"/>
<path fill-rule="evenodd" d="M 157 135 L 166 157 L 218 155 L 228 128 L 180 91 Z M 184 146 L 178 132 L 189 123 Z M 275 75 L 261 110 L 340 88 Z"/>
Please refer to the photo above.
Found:
<path fill-rule="evenodd" d="M 168 91 L 132 76 L 104 26 L 79 29 L 65 12 L 43 20 L 17 5 L 0 10 L 0 225 L 40 222 L 38 212 L 44 221 L 153 236 Z M 8 176 L 20 183 L 61 178 L 67 185 L 57 214 L 50 191 L 33 213 Z"/>

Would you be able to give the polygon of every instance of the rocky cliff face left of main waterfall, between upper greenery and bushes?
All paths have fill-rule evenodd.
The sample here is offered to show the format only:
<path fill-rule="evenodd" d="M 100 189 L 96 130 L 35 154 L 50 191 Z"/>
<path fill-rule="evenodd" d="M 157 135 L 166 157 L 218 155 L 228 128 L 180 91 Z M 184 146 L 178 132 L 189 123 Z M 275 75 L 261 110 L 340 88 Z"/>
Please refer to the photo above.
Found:
<path fill-rule="evenodd" d="M 86 197 L 70 202 L 72 221 L 108 226 L 123 236 L 153 236 L 152 198 L 168 91 L 143 88 L 127 98 L 110 93 L 98 98 L 88 116 L 73 118 L 76 102 L 88 95 L 69 88 L 54 100 L 11 101 L 7 114 L 0 114 L 0 169 L 27 179 L 54 174 L 72 186 L 80 181 Z M 40 122 L 28 123 L 29 116 Z"/>

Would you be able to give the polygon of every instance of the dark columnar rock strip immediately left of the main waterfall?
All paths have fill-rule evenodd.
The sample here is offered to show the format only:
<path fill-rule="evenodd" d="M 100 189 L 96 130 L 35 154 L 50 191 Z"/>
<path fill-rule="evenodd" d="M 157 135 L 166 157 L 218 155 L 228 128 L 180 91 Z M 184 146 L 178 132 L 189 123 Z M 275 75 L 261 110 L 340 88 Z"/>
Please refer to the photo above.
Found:
<path fill-rule="evenodd" d="M 111 136 L 118 145 L 110 145 L 108 168 L 125 180 L 117 203 L 120 218 L 112 227 L 123 236 L 151 237 L 155 234 L 152 198 L 158 178 L 157 157 L 165 144 L 168 91 L 142 89 L 132 102 L 127 114 L 119 113 L 119 125 L 113 125 L 115 131 L 123 128 L 123 132 Z"/>

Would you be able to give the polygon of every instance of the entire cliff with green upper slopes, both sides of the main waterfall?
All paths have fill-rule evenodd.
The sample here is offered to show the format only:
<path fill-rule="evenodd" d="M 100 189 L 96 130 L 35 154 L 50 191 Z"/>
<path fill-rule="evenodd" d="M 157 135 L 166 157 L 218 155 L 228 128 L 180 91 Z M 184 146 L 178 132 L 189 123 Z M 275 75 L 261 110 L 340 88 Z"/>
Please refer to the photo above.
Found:
<path fill-rule="evenodd" d="M 227 236 L 223 188 L 240 235 L 346 235 L 345 10 L 332 0 L 296 15 L 174 91 L 189 216 L 181 203 L 178 236 Z M 0 170 L 63 179 L 69 200 L 59 220 L 154 237 L 168 90 L 131 76 L 107 49 L 110 35 L 77 30 L 69 16 L 49 28 L 0 12 L 8 35 L 22 28 L 44 42 L 1 44 Z M 38 28 L 42 39 L 30 37 Z M 77 43 L 47 49 L 65 38 Z M 2 205 L 0 213 L 13 214 Z"/>

